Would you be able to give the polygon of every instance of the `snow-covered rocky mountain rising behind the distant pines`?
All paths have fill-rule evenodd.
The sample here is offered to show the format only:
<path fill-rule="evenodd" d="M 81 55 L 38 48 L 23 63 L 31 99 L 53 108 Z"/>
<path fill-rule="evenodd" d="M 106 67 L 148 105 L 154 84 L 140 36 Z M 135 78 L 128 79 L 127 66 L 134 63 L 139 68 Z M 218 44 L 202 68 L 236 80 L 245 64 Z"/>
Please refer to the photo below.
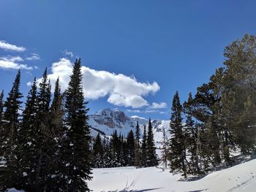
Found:
<path fill-rule="evenodd" d="M 94 115 L 89 115 L 89 124 L 91 126 L 91 135 L 95 137 L 98 132 L 105 136 L 110 136 L 113 134 L 113 131 L 117 131 L 118 134 L 124 135 L 127 137 L 129 131 L 134 131 L 136 124 L 140 124 L 140 137 L 143 134 L 143 127 L 146 125 L 148 128 L 148 120 L 145 118 L 140 118 L 138 116 L 128 117 L 121 110 L 100 110 L 96 112 Z M 156 142 L 156 146 L 159 147 L 159 142 L 162 141 L 163 138 L 163 130 L 167 133 L 167 137 L 169 134 L 169 123 L 170 120 L 151 120 L 154 132 L 154 141 Z"/>

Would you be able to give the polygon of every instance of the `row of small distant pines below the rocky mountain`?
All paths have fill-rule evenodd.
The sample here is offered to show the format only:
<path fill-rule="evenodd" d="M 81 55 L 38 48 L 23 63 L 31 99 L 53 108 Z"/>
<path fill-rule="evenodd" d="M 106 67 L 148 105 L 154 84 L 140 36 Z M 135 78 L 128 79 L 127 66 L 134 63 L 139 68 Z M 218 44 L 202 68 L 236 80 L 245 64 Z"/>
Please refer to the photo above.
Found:
<path fill-rule="evenodd" d="M 154 134 L 152 131 L 151 120 L 148 120 L 148 131 L 146 125 L 143 128 L 143 139 L 140 143 L 140 125 L 137 122 L 135 135 L 129 131 L 127 138 L 114 131 L 110 141 L 102 139 L 99 134 L 94 140 L 92 149 L 94 156 L 94 167 L 118 167 L 136 166 L 148 167 L 157 166 L 159 159 L 154 145 Z"/>

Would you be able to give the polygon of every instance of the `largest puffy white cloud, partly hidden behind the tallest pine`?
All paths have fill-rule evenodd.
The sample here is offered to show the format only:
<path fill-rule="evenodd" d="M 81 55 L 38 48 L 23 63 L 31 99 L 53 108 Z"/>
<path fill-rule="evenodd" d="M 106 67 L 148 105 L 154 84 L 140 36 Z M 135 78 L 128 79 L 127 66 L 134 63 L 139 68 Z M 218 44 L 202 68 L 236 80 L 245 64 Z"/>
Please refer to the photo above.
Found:
<path fill-rule="evenodd" d="M 51 82 L 59 77 L 61 87 L 67 88 L 69 76 L 72 74 L 72 64 L 67 58 L 61 58 L 53 63 L 49 74 Z M 159 91 L 157 82 L 138 82 L 135 77 L 124 74 L 115 74 L 106 71 L 97 71 L 82 66 L 83 88 L 86 99 L 99 99 L 108 96 L 108 102 L 116 106 L 138 108 L 148 106 L 143 97 Z"/>

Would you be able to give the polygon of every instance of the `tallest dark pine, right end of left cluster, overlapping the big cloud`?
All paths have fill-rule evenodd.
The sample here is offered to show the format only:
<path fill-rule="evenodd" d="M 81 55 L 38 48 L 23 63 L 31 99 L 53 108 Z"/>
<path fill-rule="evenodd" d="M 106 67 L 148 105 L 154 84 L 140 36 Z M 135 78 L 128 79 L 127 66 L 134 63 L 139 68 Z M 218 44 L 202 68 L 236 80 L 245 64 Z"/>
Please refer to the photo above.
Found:
<path fill-rule="evenodd" d="M 91 180 L 91 151 L 87 102 L 84 101 L 80 59 L 75 61 L 65 91 L 66 138 L 62 148 L 61 190 L 89 191 L 86 180 Z"/>

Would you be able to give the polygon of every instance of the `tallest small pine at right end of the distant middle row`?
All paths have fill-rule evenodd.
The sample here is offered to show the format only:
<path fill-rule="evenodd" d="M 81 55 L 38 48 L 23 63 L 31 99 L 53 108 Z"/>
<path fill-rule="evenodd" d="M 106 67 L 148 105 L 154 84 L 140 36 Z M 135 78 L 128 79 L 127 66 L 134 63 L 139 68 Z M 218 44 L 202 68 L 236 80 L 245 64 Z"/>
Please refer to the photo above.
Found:
<path fill-rule="evenodd" d="M 157 166 L 158 160 L 157 160 L 157 153 L 156 153 L 156 147 L 154 145 L 154 134 L 152 130 L 152 124 L 151 119 L 148 120 L 148 137 L 147 137 L 147 147 L 146 147 L 146 153 L 147 153 L 147 166 Z"/>

